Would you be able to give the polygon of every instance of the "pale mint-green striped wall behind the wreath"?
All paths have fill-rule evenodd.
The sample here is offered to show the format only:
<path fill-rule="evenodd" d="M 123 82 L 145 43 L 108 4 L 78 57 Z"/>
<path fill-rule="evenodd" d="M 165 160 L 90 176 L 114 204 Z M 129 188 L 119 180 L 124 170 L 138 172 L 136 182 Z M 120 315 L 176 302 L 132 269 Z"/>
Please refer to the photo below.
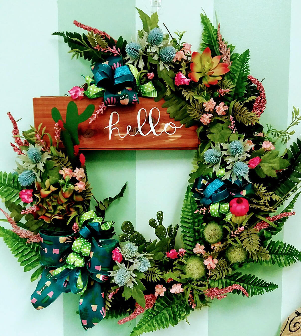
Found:
<path fill-rule="evenodd" d="M 10 110 L 16 118 L 23 117 L 20 128 L 26 129 L 33 120 L 32 97 L 63 95 L 74 85 L 83 83 L 81 74 L 90 74 L 89 62 L 71 60 L 71 55 L 67 53 L 68 46 L 62 39 L 51 36 L 50 33 L 57 30 L 81 33 L 82 30 L 73 25 L 73 20 L 76 19 L 105 30 L 114 37 L 122 35 L 130 41 L 131 37 L 136 37 L 136 30 L 141 25 L 135 5 L 145 11 L 150 8 L 149 0 L 31 1 L 30 6 L 22 0 L 0 0 L 2 32 L 17 31 L 23 36 L 30 36 L 37 31 L 35 38 L 17 42 L 15 47 L 19 52 L 14 48 L 0 53 L 1 64 L 6 65 L 3 69 L 5 80 L 2 85 L 6 81 L 8 84 L 15 84 L 17 76 L 21 83 L 21 89 L 17 93 L 7 90 L 7 85 L 2 91 L 5 94 L 1 98 L 0 110 L 4 125 L 0 133 L 3 155 L 0 170 L 13 169 L 15 160 L 8 144 L 11 127 L 5 113 Z M 35 8 L 35 11 L 29 7 Z M 250 49 L 251 74 L 259 79 L 266 77 L 264 86 L 268 105 L 262 115 L 262 122 L 268 121 L 285 128 L 287 111 L 291 110 L 288 102 L 290 105 L 298 105 L 294 96 L 289 97 L 288 92 L 290 88 L 294 95 L 299 94 L 299 90 L 296 90 L 299 85 L 296 71 L 300 75 L 301 70 L 299 59 L 295 55 L 298 52 L 300 54 L 300 47 L 296 47 L 300 46 L 300 31 L 298 33 L 296 29 L 301 13 L 300 2 L 162 0 L 160 25 L 164 22 L 171 31 L 187 30 L 186 40 L 197 50 L 201 35 L 201 7 L 212 20 L 215 20 L 216 11 L 223 36 L 236 45 L 238 52 Z M 291 30 L 293 34 L 290 43 Z M 11 45 L 10 34 L 2 35 L 1 45 Z M 301 101 L 299 106 L 300 103 Z M 186 181 L 192 169 L 193 151 L 99 151 L 86 152 L 85 156 L 88 177 L 96 198 L 113 196 L 128 182 L 124 197 L 113 204 L 106 215 L 107 219 L 116 222 L 117 227 L 124 220 L 130 220 L 139 231 L 154 238 L 148 220 L 158 210 L 164 212 L 165 224 L 179 222 Z M 300 249 L 301 237 L 296 234 L 300 231 L 298 220 L 291 217 L 288 222 L 292 226 L 285 230 L 285 241 Z M 77 295 L 64 294 L 47 309 L 35 311 L 29 300 L 35 284 L 29 282 L 29 275 L 23 274 L 21 267 L 2 242 L 0 253 L 0 293 L 2 302 L 5 302 L 0 306 L 1 335 L 35 335 L 33 328 L 37 331 L 42 326 L 44 336 L 53 335 L 54 332 L 57 336 L 86 335 L 80 326 L 78 315 L 75 314 L 78 309 Z M 236 336 L 242 333 L 245 336 L 278 335 L 280 321 L 301 305 L 301 290 L 297 291 L 299 299 L 298 295 L 294 295 L 294 288 L 299 285 L 295 279 L 300 278 L 301 265 L 284 270 L 277 267 L 262 267 L 258 270 L 258 267 L 252 266 L 244 271 L 254 272 L 265 280 L 275 282 L 279 288 L 272 293 L 253 298 L 229 294 L 221 301 L 214 301 L 209 309 L 205 307 L 191 313 L 188 318 L 190 326 L 180 322 L 176 329 L 160 330 L 155 334 L 159 336 L 189 332 L 202 336 Z M 294 297 L 293 302 L 290 297 Z M 21 303 L 16 306 L 16 301 Z M 131 325 L 118 326 L 116 322 L 105 320 L 87 333 L 90 336 L 125 336 L 129 335 L 136 324 L 133 321 Z"/>

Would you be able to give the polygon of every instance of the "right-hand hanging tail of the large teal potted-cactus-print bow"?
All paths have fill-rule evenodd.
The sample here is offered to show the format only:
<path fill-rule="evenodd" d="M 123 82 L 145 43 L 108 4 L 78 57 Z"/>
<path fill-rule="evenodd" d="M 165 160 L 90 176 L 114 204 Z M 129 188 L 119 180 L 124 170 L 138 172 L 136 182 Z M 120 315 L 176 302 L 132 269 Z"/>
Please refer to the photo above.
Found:
<path fill-rule="evenodd" d="M 93 328 L 106 316 L 105 295 L 101 284 L 97 281 L 89 280 L 87 290 L 79 299 L 79 317 L 84 330 Z"/>

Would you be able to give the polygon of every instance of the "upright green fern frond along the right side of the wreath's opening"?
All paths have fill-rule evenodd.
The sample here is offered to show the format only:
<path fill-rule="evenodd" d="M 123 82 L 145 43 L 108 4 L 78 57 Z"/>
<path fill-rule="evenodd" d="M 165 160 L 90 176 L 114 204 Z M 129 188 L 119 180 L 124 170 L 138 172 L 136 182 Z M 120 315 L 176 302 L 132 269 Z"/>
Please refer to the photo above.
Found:
<path fill-rule="evenodd" d="M 196 243 L 200 242 L 202 215 L 195 214 L 197 205 L 188 186 L 181 213 L 182 241 L 187 253 L 192 253 Z"/>

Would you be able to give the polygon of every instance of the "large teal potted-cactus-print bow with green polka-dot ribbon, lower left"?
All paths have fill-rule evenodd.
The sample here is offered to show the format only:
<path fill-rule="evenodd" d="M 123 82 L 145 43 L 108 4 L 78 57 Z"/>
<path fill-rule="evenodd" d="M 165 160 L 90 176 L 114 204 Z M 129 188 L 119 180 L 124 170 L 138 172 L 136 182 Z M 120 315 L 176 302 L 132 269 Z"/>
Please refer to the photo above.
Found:
<path fill-rule="evenodd" d="M 84 213 L 79 223 L 82 228 L 76 239 L 71 232 L 40 231 L 40 263 L 46 267 L 31 302 L 42 309 L 61 293 L 79 293 L 79 315 L 86 330 L 105 317 L 101 283 L 108 280 L 112 250 L 118 241 L 100 238 L 101 230 L 109 229 L 113 222 L 103 223 L 94 211 Z"/>

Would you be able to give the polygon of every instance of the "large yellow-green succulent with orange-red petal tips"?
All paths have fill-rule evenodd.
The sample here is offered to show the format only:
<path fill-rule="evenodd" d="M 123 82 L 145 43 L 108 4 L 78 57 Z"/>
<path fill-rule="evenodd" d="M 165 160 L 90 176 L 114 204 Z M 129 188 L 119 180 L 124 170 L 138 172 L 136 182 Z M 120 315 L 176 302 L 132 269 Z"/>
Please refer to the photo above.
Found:
<path fill-rule="evenodd" d="M 220 55 L 211 57 L 209 47 L 207 47 L 202 54 L 194 51 L 191 60 L 190 70 L 192 72 L 188 74 L 188 77 L 194 82 L 198 82 L 200 78 L 203 78 L 203 84 L 207 87 L 217 84 L 217 82 L 222 79 L 221 75 L 230 71 L 228 64 L 220 63 Z"/>

